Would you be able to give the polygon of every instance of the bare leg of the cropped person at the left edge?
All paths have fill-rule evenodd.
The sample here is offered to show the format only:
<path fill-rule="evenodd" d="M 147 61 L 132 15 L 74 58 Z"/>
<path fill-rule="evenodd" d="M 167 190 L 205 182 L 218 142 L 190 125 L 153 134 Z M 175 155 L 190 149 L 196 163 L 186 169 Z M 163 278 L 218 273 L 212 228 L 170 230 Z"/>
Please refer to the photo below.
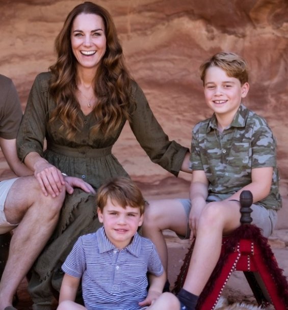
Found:
<path fill-rule="evenodd" d="M 17 287 L 53 233 L 64 198 L 65 187 L 56 198 L 44 196 L 34 176 L 21 177 L 12 185 L 4 212 L 8 222 L 19 225 L 0 282 L 0 310 L 12 305 Z"/>

